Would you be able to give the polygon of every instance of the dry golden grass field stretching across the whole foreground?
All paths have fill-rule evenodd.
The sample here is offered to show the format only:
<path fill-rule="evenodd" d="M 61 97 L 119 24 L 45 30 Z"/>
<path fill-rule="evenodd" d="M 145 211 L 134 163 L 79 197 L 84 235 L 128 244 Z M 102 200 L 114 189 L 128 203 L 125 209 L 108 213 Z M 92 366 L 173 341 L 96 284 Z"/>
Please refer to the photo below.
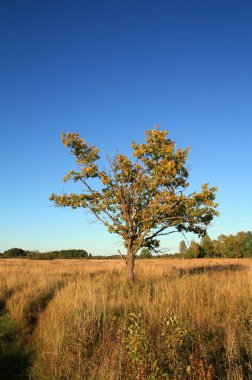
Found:
<path fill-rule="evenodd" d="M 250 379 L 251 261 L 0 260 L 1 379 Z"/>

